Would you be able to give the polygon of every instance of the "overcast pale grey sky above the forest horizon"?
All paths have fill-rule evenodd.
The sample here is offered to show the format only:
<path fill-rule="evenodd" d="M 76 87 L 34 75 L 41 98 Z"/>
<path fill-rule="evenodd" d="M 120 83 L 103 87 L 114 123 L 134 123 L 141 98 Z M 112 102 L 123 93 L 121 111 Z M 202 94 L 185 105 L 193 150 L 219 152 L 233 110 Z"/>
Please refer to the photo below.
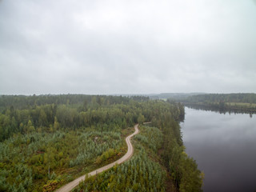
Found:
<path fill-rule="evenodd" d="M 256 0 L 0 0 L 0 94 L 256 93 Z"/>

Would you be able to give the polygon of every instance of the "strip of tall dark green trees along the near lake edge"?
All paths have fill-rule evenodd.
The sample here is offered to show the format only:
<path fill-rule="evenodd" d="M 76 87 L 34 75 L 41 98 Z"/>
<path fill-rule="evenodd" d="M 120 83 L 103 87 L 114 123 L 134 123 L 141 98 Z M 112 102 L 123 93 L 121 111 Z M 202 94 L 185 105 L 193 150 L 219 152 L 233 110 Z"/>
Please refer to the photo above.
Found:
<path fill-rule="evenodd" d="M 184 108 L 180 111 L 184 113 Z M 168 178 L 176 189 L 182 192 L 202 191 L 204 175 L 198 170 L 197 163 L 185 153 L 179 121 L 170 112 L 161 114 L 162 118 L 153 125 L 162 130 L 162 164 L 166 167 Z"/>

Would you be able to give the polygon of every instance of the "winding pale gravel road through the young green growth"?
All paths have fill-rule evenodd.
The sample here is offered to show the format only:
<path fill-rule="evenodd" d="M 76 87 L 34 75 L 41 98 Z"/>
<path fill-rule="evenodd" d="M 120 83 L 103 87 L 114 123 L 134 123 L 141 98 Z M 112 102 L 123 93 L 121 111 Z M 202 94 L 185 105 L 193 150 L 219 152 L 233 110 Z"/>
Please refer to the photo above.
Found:
<path fill-rule="evenodd" d="M 139 130 L 138 130 L 138 124 L 134 126 L 134 133 L 130 134 L 127 138 L 126 138 L 126 144 L 128 146 L 128 150 L 126 152 L 126 154 L 124 156 L 122 156 L 122 158 L 119 158 L 117 161 L 112 162 L 106 166 L 102 166 L 101 168 L 98 168 L 98 170 L 94 170 L 92 172 L 90 172 L 88 175 L 93 176 L 95 174 L 99 174 L 102 173 L 104 170 L 108 170 L 111 167 L 113 167 L 116 164 L 120 164 L 122 162 L 127 161 L 129 158 L 131 158 L 134 154 L 134 147 L 131 145 L 130 142 L 130 138 L 132 138 L 135 134 L 138 134 Z M 82 175 L 79 178 L 74 179 L 73 182 L 69 182 L 67 183 L 65 186 L 62 186 L 61 188 L 59 188 L 58 190 L 56 190 L 56 192 L 68 192 L 70 190 L 72 190 L 74 187 L 78 186 L 79 182 L 82 182 L 83 180 L 85 180 L 86 178 L 86 174 Z"/>

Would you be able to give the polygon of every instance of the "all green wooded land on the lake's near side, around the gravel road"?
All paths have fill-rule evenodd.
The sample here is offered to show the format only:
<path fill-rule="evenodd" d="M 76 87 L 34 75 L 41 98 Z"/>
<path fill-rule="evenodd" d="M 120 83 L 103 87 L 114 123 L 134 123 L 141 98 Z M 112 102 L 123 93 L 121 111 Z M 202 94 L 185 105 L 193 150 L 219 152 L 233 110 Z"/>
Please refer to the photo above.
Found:
<path fill-rule="evenodd" d="M 134 158 L 102 175 L 105 186 L 96 186 L 94 178 L 89 186 L 110 190 L 118 183 L 124 189 L 126 179 L 129 191 L 201 189 L 202 174 L 182 144 L 180 103 L 138 96 L 5 95 L 0 109 L 0 191 L 53 191 L 113 162 L 126 153 L 127 127 L 142 122 L 154 127 L 141 127 Z"/>

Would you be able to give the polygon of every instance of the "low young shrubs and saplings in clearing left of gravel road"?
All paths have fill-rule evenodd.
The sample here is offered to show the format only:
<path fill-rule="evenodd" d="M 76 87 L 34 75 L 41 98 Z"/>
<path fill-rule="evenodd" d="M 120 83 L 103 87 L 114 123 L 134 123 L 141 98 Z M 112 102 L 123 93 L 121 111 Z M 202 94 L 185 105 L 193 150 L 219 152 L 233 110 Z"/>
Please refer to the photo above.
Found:
<path fill-rule="evenodd" d="M 48 191 L 65 182 L 65 177 L 58 177 L 62 176 L 61 170 L 94 164 L 106 152 L 107 158 L 113 157 L 121 147 L 122 138 L 117 132 L 57 131 L 18 135 L 0 143 L 0 186 L 7 191 L 16 188 L 32 191 L 42 190 L 47 182 L 43 189 Z M 48 179 L 57 177 L 56 185 L 48 185 Z M 32 182 L 37 183 L 33 188 Z"/>

